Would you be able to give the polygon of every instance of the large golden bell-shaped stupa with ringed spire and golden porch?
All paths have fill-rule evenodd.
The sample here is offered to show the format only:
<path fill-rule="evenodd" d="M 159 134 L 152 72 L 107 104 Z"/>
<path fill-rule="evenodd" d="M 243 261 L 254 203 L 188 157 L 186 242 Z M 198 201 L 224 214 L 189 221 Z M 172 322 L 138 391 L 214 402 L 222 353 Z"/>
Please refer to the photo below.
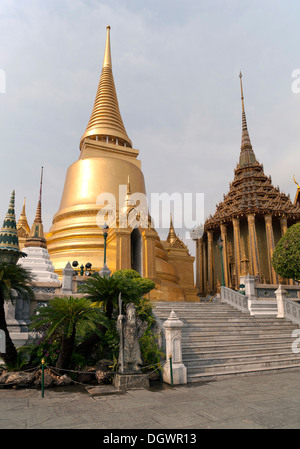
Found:
<path fill-rule="evenodd" d="M 193 261 L 173 229 L 162 242 L 148 216 L 142 225 L 124 226 L 124 213 L 137 207 L 134 194 L 146 195 L 139 151 L 126 132 L 116 94 L 110 49 L 110 27 L 94 107 L 80 140 L 80 154 L 68 169 L 58 212 L 46 235 L 59 276 L 68 262 L 92 264 L 99 271 L 106 261 L 111 272 L 135 269 L 156 283 L 157 300 L 198 300 Z M 120 197 L 121 191 L 125 194 Z M 99 195 L 115 200 L 115 218 L 103 229 L 97 216 L 104 205 Z M 144 217 L 145 218 L 145 217 Z M 107 233 L 107 236 L 106 236 Z M 104 238 L 105 237 L 105 238 Z"/>

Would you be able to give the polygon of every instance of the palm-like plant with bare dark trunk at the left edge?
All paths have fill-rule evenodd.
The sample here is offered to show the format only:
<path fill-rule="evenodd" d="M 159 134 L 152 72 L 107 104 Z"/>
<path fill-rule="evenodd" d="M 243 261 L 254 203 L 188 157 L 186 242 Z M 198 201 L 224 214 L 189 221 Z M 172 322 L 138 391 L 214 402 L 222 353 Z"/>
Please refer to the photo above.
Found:
<path fill-rule="evenodd" d="M 4 331 L 6 337 L 6 351 L 0 355 L 4 362 L 11 367 L 17 363 L 18 353 L 8 332 L 4 301 L 15 298 L 14 292 L 23 298 L 33 298 L 32 280 L 31 273 L 21 265 L 0 263 L 0 329 Z"/>

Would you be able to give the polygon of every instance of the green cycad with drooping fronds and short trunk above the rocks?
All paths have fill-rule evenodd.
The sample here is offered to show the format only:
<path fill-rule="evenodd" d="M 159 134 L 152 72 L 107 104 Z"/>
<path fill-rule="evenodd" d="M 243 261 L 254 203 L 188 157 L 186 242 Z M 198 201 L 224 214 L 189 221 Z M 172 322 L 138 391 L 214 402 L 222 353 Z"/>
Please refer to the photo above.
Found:
<path fill-rule="evenodd" d="M 56 368 L 67 369 L 70 366 L 76 336 L 83 336 L 97 326 L 107 326 L 107 319 L 99 306 L 87 298 L 54 298 L 47 307 L 38 309 L 32 317 L 31 328 L 39 330 L 48 325 L 46 337 L 61 335 L 61 350 Z"/>

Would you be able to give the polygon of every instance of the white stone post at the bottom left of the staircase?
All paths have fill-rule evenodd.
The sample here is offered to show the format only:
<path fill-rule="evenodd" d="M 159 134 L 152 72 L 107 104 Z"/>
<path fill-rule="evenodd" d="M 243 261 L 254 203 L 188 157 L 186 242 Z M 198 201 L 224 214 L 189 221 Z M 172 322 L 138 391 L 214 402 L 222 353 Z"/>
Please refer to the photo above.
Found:
<path fill-rule="evenodd" d="M 187 371 L 182 363 L 181 330 L 183 322 L 177 318 L 172 310 L 169 318 L 163 324 L 166 330 L 166 359 L 163 367 L 163 380 L 168 384 L 180 385 L 187 383 Z M 170 356 L 172 357 L 172 375 L 170 366 Z"/>

